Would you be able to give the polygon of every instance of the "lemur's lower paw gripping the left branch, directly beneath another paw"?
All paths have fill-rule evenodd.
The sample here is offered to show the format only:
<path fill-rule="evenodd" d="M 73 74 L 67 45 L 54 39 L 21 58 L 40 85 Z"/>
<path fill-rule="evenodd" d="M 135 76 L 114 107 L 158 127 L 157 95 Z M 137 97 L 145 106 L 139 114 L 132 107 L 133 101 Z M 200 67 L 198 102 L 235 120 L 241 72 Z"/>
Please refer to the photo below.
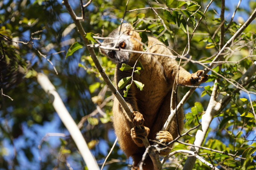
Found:
<path fill-rule="evenodd" d="M 141 129 L 137 128 L 136 126 L 131 129 L 131 136 L 132 140 L 135 144 L 137 144 L 139 147 L 144 146 L 142 140 L 144 140 L 146 137 L 148 137 L 149 134 L 149 128 L 146 126 L 140 126 Z"/>

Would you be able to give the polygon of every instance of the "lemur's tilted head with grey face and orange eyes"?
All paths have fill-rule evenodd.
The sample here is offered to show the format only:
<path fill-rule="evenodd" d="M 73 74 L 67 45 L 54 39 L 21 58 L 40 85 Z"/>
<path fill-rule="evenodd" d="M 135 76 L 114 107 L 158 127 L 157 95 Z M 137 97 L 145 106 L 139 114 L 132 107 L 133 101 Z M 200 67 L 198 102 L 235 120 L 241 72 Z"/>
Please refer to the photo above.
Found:
<path fill-rule="evenodd" d="M 119 35 L 120 28 L 116 28 L 114 31 L 112 31 L 107 37 L 111 39 L 104 40 L 102 45 L 106 48 L 133 50 L 133 43 L 130 40 L 131 31 L 127 30 L 125 26 L 126 25 L 124 25 L 125 30 L 123 30 L 122 28 L 120 35 Z M 123 64 L 123 63 L 127 64 L 132 55 L 132 53 L 128 51 L 109 50 L 109 49 L 102 49 L 102 48 L 100 49 L 100 52 L 103 55 L 106 55 L 110 60 L 118 64 Z"/>

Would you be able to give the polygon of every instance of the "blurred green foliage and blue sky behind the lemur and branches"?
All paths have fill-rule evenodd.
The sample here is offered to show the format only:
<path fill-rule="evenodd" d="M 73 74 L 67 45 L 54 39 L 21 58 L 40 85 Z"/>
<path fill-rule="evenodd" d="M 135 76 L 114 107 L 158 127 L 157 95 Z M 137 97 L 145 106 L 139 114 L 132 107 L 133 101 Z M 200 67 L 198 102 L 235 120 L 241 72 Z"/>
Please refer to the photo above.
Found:
<path fill-rule="evenodd" d="M 203 16 L 197 28 L 197 34 L 190 42 L 187 57 L 192 56 L 192 59 L 196 61 L 211 62 L 212 58 L 208 57 L 216 55 L 219 50 L 220 31 L 216 32 L 216 30 L 220 26 L 221 1 L 214 1 L 205 16 L 202 12 L 209 4 L 208 0 L 187 1 L 187 3 L 175 0 L 171 4 L 170 2 L 150 1 L 152 7 L 158 8 L 156 12 L 167 26 L 165 32 L 163 32 L 162 21 L 153 10 L 135 10 L 150 7 L 147 1 L 130 0 L 127 10 L 134 11 L 125 14 L 124 22 L 133 23 L 136 30 L 147 30 L 141 32 L 141 37 L 144 38 L 142 41 L 145 43 L 147 41 L 145 35 L 161 34 L 159 40 L 181 55 L 187 45 L 187 33 L 184 32 L 186 24 L 188 24 L 189 32 L 192 32 L 195 24 Z M 75 13 L 81 16 L 80 1 L 70 1 L 70 3 Z M 166 3 L 170 4 L 168 7 L 173 10 L 161 9 L 166 8 Z M 237 3 L 238 1 L 226 1 L 224 23 L 226 28 Z M 85 32 L 107 36 L 120 25 L 125 5 L 126 1 L 121 0 L 93 0 L 84 11 L 85 18 L 82 25 Z M 199 7 L 200 10 L 190 16 Z M 234 21 L 226 31 L 225 42 L 240 28 L 255 8 L 256 3 L 253 0 L 244 1 L 240 5 Z M 175 13 L 179 17 L 173 16 Z M 186 23 L 188 17 L 190 19 Z M 253 22 L 238 38 L 238 43 L 230 47 L 234 51 L 230 50 L 224 55 L 225 61 L 238 61 L 245 56 L 256 55 L 255 31 L 256 24 Z M 99 165 L 102 165 L 116 139 L 111 124 L 111 92 L 102 81 L 86 47 L 77 50 L 65 60 L 71 44 L 81 40 L 60 0 L 0 1 L 0 83 L 4 94 L 0 96 L 1 170 L 86 169 L 76 145 L 54 111 L 48 96 L 37 83 L 37 72 L 44 72 L 50 78 L 75 122 L 78 124 L 82 120 L 80 125 L 84 138 Z M 113 80 L 115 64 L 100 55 L 97 48 L 95 51 L 106 73 Z M 222 64 L 222 70 L 219 73 L 226 78 L 238 80 L 255 59 L 256 57 L 253 56 L 237 64 Z M 182 64 L 191 73 L 203 69 L 202 66 L 191 62 L 183 61 Z M 218 71 L 218 68 L 215 70 Z M 208 83 L 203 84 L 208 92 L 212 91 L 212 80 L 216 78 L 218 76 L 212 74 Z M 246 88 L 255 92 L 255 80 Z M 182 96 L 188 89 L 188 87 L 183 87 L 180 95 Z M 233 90 L 230 84 L 222 79 L 220 96 L 226 93 L 232 94 Z M 212 161 L 220 169 L 253 169 L 256 161 L 255 156 L 251 156 L 256 147 L 255 119 L 240 115 L 251 112 L 252 107 L 256 109 L 256 104 L 251 106 L 248 101 L 240 100 L 240 98 L 249 99 L 245 93 L 232 95 L 233 100 L 230 105 L 213 120 L 205 146 L 233 154 L 237 153 L 237 155 L 243 154 L 248 159 L 246 161 L 235 160 L 207 150 L 201 150 L 200 153 L 207 153 L 208 156 L 204 158 L 209 162 Z M 255 101 L 255 95 L 251 97 Z M 184 105 L 186 129 L 198 124 L 196 115 L 199 119 L 202 117 L 209 98 L 209 94 L 204 89 L 197 89 Z M 97 110 L 97 106 L 102 108 L 98 107 Z M 194 130 L 191 134 L 195 132 Z M 194 139 L 195 135 L 183 138 L 185 142 L 191 144 Z M 188 149 L 188 146 L 176 144 L 174 150 L 179 148 Z M 108 160 L 104 169 L 128 169 L 132 163 L 131 159 L 126 159 L 118 145 L 114 147 Z M 183 157 L 177 155 L 177 157 L 170 158 L 164 167 L 166 169 L 180 168 L 184 162 Z M 200 161 L 196 161 L 194 168 L 209 169 Z"/>

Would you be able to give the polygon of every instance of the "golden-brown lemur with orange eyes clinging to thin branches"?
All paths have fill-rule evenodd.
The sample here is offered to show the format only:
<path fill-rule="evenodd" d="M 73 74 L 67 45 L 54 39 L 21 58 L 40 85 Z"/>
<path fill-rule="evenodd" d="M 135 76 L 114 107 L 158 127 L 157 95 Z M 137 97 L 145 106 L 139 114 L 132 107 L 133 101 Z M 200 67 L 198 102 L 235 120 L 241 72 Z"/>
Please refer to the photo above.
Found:
<path fill-rule="evenodd" d="M 103 45 L 105 47 L 112 48 L 116 45 L 118 49 L 143 51 L 140 35 L 133 30 L 131 24 L 122 24 L 121 31 L 119 26 L 112 31 L 108 37 L 111 39 L 105 39 L 103 41 L 103 44 L 106 44 Z M 171 51 L 163 46 L 163 43 L 156 38 L 148 37 L 148 47 L 151 47 L 147 51 L 149 53 L 172 55 Z M 176 119 L 172 121 L 168 131 L 161 131 L 165 121 L 170 115 L 172 86 L 176 73 L 178 72 L 178 64 L 170 57 L 159 55 L 141 55 L 138 53 L 102 48 L 100 52 L 117 63 L 115 71 L 116 84 L 122 78 L 132 75 L 132 70 L 119 70 L 122 63 L 133 67 L 136 60 L 140 57 L 140 62 L 144 67 L 144 70 L 140 70 L 140 75 L 133 74 L 133 80 L 144 84 L 143 91 L 140 91 L 140 89 L 132 83 L 127 97 L 124 98 L 133 111 L 132 118 L 134 124 L 132 124 L 116 98 L 114 99 L 113 105 L 113 123 L 120 147 L 127 157 L 132 157 L 133 168 L 137 169 L 138 167 L 136 166 L 138 166 L 145 152 L 145 147 L 141 139 L 147 137 L 148 139 L 158 140 L 161 143 L 168 143 L 178 136 Z M 202 77 L 200 76 L 202 72 L 203 70 L 198 70 L 196 73 L 190 74 L 180 67 L 178 83 L 181 85 L 194 85 L 196 82 L 203 83 L 208 79 L 208 75 Z M 117 85 L 116 88 L 118 89 Z M 124 96 L 124 90 L 126 90 L 125 87 L 118 89 L 122 96 Z M 175 104 L 173 108 L 175 108 Z M 183 129 L 183 110 L 177 115 L 179 130 L 181 131 Z M 137 129 L 135 127 L 136 125 L 140 125 L 141 129 Z M 168 152 L 170 152 L 170 149 L 161 151 L 160 154 L 166 155 Z M 153 169 L 153 163 L 149 157 L 145 160 L 143 169 Z"/>

